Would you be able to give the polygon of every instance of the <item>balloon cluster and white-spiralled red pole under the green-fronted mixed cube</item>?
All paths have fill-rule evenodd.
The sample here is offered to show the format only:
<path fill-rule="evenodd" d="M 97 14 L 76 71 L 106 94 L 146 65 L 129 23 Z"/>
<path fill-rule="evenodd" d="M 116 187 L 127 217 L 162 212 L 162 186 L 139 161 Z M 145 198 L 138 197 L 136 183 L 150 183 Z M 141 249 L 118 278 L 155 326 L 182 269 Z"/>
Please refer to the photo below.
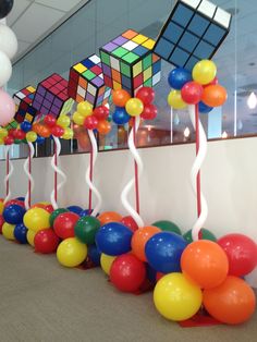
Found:
<path fill-rule="evenodd" d="M 134 98 L 124 90 L 118 89 L 112 93 L 112 100 L 115 105 L 115 110 L 112 114 L 114 123 L 121 125 L 126 124 L 132 120 L 133 127 L 128 136 L 128 148 L 135 159 L 135 179 L 132 179 L 124 187 L 121 194 L 121 200 L 124 208 L 135 220 L 138 227 L 144 227 L 144 221 L 139 216 L 139 190 L 138 190 L 138 178 L 143 172 L 143 161 L 137 152 L 135 141 L 136 133 L 140 124 L 140 119 L 154 120 L 157 117 L 157 107 L 152 105 L 155 100 L 155 90 L 151 87 L 140 87 Z M 128 192 L 135 184 L 136 187 L 136 210 L 130 205 L 127 200 Z"/>

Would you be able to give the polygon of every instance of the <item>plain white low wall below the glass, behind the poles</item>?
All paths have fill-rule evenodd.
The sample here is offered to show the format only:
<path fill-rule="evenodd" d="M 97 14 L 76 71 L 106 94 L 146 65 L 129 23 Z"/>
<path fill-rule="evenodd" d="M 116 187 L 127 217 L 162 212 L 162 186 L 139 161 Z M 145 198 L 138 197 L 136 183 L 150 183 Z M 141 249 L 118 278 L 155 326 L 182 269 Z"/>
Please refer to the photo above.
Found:
<path fill-rule="evenodd" d="M 203 167 L 203 192 L 209 206 L 205 227 L 218 236 L 229 232 L 242 232 L 257 240 L 257 138 L 212 142 Z M 196 219 L 196 200 L 189 184 L 189 170 L 195 158 L 195 146 L 179 145 L 140 149 L 145 172 L 140 181 L 142 216 L 146 224 L 168 219 L 183 231 Z M 11 180 L 13 196 L 26 193 L 26 178 L 22 170 L 24 160 L 14 161 Z M 88 188 L 84 174 L 88 155 L 61 157 L 69 181 L 59 205 L 87 207 Z M 0 179 L 4 176 L 4 163 L 0 162 Z M 34 201 L 49 200 L 52 188 L 50 158 L 33 161 L 36 181 Z M 127 150 L 99 154 L 95 180 L 102 197 L 102 210 L 117 210 L 125 215 L 120 193 L 133 172 Z M 3 196 L 1 182 L 0 196 Z M 133 196 L 131 197 L 133 199 Z M 250 277 L 257 286 L 257 272 Z"/>

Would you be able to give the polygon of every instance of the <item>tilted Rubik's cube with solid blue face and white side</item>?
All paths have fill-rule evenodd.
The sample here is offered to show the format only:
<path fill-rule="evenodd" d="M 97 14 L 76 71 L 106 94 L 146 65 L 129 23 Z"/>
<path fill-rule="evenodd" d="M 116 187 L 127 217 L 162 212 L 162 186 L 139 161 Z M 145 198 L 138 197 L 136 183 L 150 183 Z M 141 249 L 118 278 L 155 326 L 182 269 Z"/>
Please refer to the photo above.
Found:
<path fill-rule="evenodd" d="M 211 59 L 230 30 L 231 14 L 207 0 L 179 0 L 154 51 L 175 66 L 192 70 Z"/>

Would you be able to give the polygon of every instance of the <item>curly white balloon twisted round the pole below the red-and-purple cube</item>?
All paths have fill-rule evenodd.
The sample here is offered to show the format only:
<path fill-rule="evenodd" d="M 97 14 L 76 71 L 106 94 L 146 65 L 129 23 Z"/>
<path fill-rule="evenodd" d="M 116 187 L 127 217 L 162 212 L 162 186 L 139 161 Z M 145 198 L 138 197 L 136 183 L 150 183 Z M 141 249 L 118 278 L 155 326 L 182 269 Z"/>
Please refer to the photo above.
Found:
<path fill-rule="evenodd" d="M 56 136 L 53 136 L 53 141 L 54 141 L 54 155 L 52 156 L 51 159 L 51 167 L 54 170 L 54 186 L 53 190 L 51 192 L 51 205 L 53 207 L 54 210 L 58 209 L 58 204 L 57 204 L 57 193 L 61 190 L 61 187 L 66 183 L 66 175 L 65 173 L 57 166 L 57 161 L 58 161 L 58 157 L 60 156 L 61 152 L 61 143 L 60 139 Z M 57 174 L 60 174 L 63 179 L 63 181 L 61 183 L 57 184 Z"/>

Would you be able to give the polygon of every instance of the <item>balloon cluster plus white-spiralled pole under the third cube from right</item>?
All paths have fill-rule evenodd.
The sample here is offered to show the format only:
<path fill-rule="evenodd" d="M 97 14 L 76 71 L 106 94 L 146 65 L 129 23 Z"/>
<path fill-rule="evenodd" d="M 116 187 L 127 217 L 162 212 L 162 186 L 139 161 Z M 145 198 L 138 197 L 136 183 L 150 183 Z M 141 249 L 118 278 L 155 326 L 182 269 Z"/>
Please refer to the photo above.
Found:
<path fill-rule="evenodd" d="M 77 105 L 77 110 L 73 114 L 73 121 L 78 126 L 84 126 L 91 143 L 90 150 L 90 164 L 86 171 L 86 183 L 89 186 L 89 212 L 91 211 L 91 192 L 97 197 L 97 204 L 91 212 L 91 216 L 96 216 L 101 208 L 101 195 L 93 183 L 94 166 L 96 163 L 98 148 L 95 132 L 107 135 L 111 131 L 111 124 L 107 120 L 109 117 L 109 108 L 107 106 L 99 106 L 93 109 L 93 106 L 87 101 L 82 101 Z"/>

